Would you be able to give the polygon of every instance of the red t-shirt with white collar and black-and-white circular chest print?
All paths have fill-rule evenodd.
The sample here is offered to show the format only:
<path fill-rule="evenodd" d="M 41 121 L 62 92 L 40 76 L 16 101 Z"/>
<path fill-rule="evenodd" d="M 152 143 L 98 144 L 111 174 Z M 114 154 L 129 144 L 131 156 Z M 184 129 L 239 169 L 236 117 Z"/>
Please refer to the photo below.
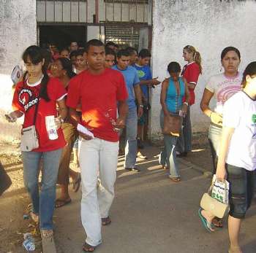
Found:
<path fill-rule="evenodd" d="M 38 103 L 38 95 L 40 82 L 34 85 L 18 82 L 15 87 L 15 93 L 12 100 L 12 108 L 23 112 L 24 122 L 23 128 L 34 125 L 35 105 Z M 45 117 L 54 115 L 57 116 L 56 101 L 61 100 L 67 94 L 64 86 L 59 82 L 59 79 L 50 78 L 47 85 L 48 96 L 50 101 L 40 98 L 37 109 L 36 129 L 39 137 L 39 148 L 33 149 L 37 152 L 47 152 L 64 147 L 66 141 L 61 128 L 58 130 L 59 138 L 50 140 L 46 131 Z"/>

